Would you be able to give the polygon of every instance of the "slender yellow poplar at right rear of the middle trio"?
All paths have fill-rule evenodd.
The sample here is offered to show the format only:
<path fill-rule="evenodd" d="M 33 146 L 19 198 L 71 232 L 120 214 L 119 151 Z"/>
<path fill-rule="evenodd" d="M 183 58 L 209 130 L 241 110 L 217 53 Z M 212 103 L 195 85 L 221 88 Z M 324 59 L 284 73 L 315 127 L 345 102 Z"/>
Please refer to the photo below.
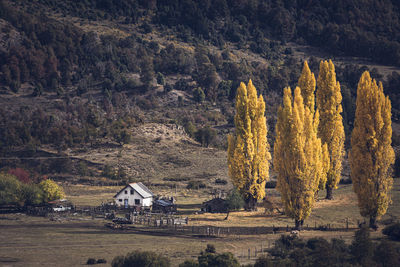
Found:
<path fill-rule="evenodd" d="M 318 136 L 328 149 L 326 172 L 326 199 L 333 198 L 333 189 L 340 182 L 344 157 L 344 127 L 341 113 L 342 94 L 336 81 L 335 66 L 332 61 L 321 61 L 317 80 L 317 108 L 320 113 Z"/>

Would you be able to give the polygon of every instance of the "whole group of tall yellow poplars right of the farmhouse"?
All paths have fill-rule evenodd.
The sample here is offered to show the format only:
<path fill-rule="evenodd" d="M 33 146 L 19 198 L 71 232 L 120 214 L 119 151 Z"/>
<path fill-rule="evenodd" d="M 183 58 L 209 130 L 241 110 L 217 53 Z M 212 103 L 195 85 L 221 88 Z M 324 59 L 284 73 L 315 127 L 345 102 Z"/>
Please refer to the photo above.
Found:
<path fill-rule="evenodd" d="M 317 86 L 316 99 L 315 90 Z M 265 196 L 269 145 L 262 96 L 251 81 L 237 90 L 235 134 L 228 137 L 228 167 L 233 185 L 248 209 Z M 317 82 L 307 62 L 292 95 L 284 89 L 278 110 L 274 142 L 277 189 L 285 213 L 301 228 L 310 215 L 319 190 L 333 189 L 341 178 L 345 132 L 341 116 L 342 95 L 332 61 L 321 61 Z M 360 213 L 370 218 L 370 227 L 386 213 L 392 187 L 391 104 L 382 83 L 364 72 L 358 84 L 350 167 Z"/>

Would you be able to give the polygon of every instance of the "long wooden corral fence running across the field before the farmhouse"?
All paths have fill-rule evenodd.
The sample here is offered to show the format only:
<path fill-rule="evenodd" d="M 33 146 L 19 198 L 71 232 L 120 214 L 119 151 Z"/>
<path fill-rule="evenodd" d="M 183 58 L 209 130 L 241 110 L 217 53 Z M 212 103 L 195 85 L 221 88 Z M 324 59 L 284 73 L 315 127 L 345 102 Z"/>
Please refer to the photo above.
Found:
<path fill-rule="evenodd" d="M 43 206 L 0 206 L 0 213 L 16 213 L 26 212 L 34 216 L 91 216 L 92 218 L 118 218 L 117 214 L 124 214 L 125 218 L 130 223 L 136 225 L 146 226 L 149 230 L 163 231 L 172 234 L 190 234 L 204 237 L 223 237 L 223 236 L 240 236 L 240 235 L 260 235 L 260 234 L 275 234 L 282 232 L 291 232 L 294 227 L 290 225 L 273 225 L 273 226 L 259 226 L 259 227 L 246 227 L 246 226 L 232 226 L 232 227 L 218 227 L 211 225 L 190 225 L 188 217 L 178 215 L 168 215 L 162 213 L 151 213 L 144 210 L 139 210 L 135 207 L 121 208 L 114 205 L 100 205 L 100 206 L 71 206 L 70 209 L 62 212 L 56 212 L 49 205 Z M 118 223 L 118 222 L 117 222 Z M 360 227 L 363 222 L 357 221 L 357 224 L 350 223 L 346 220 L 342 224 L 317 224 L 304 225 L 302 230 L 308 231 L 337 231 L 346 232 L 354 231 Z"/>

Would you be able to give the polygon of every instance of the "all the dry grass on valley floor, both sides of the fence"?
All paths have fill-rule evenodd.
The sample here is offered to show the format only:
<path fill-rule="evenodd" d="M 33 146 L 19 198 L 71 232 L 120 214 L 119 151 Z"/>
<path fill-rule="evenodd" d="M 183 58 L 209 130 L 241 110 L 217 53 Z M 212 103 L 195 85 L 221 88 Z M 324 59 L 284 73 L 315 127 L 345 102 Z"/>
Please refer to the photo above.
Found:
<path fill-rule="evenodd" d="M 65 186 L 67 197 L 75 205 L 97 205 L 112 198 L 121 187 L 97 187 L 68 185 Z M 210 198 L 206 190 L 180 189 L 161 190 L 152 188 L 154 192 L 177 197 L 179 212 L 190 218 L 189 225 L 194 226 L 293 226 L 293 221 L 280 214 L 264 214 L 260 209 L 256 212 L 233 212 L 229 220 L 224 220 L 225 214 L 195 214 L 201 203 Z M 272 194 L 273 192 L 268 192 Z M 357 200 L 351 185 L 340 185 L 335 191 L 335 199 L 326 201 L 321 193 L 320 200 L 305 224 L 313 226 L 330 223 L 333 227 L 343 227 L 346 219 L 350 226 L 359 215 Z M 400 218 L 400 179 L 395 180 L 392 191 L 393 204 L 380 223 Z M 132 230 L 111 230 L 104 227 L 103 219 L 72 217 L 61 221 L 51 221 L 49 218 L 30 217 L 23 214 L 0 215 L 0 266 L 80 266 L 88 258 L 104 258 L 109 266 L 111 260 L 118 255 L 124 255 L 135 249 L 151 250 L 170 257 L 174 266 L 188 258 L 195 258 L 208 243 L 214 244 L 219 252 L 232 252 L 239 257 L 241 263 L 254 262 L 254 250 L 260 252 L 261 247 L 272 246 L 278 234 L 265 235 L 231 235 L 228 237 L 205 238 L 190 235 L 166 235 L 157 232 L 143 232 L 142 226 Z M 351 242 L 354 232 L 338 231 L 302 231 L 301 237 L 311 238 L 322 236 L 327 239 L 343 238 Z M 380 231 L 372 234 L 374 238 L 382 238 Z M 251 258 L 248 259 L 248 249 Z M 258 254 L 259 255 L 259 254 Z"/>

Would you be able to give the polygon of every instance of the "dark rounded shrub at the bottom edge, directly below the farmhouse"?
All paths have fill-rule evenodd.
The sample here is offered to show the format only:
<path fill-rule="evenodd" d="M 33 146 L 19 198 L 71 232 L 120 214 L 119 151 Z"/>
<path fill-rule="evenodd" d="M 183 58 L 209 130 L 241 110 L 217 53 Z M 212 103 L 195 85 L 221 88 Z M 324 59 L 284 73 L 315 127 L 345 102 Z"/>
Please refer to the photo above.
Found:
<path fill-rule="evenodd" d="M 169 267 L 167 257 L 151 251 L 133 251 L 124 256 L 117 256 L 111 262 L 112 267 L 143 266 L 143 267 Z"/>

